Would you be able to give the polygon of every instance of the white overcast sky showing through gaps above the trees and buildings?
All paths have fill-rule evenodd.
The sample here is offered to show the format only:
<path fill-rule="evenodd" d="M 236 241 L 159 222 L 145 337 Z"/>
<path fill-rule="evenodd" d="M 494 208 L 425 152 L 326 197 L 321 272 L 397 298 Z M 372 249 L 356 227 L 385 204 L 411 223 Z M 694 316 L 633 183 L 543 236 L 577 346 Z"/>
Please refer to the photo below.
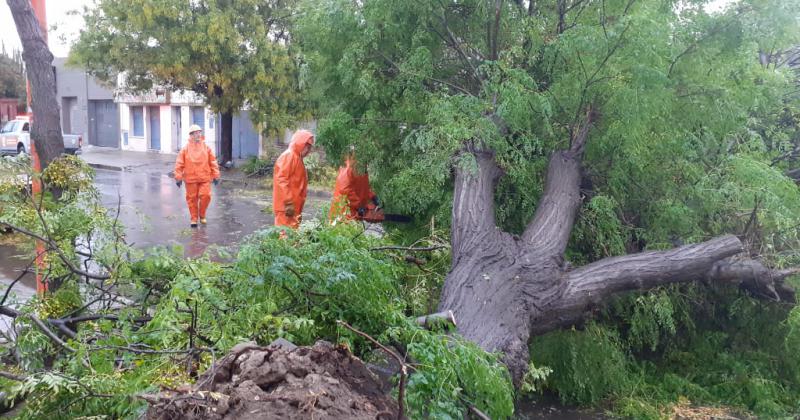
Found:
<path fill-rule="evenodd" d="M 733 0 L 712 0 L 709 11 L 721 10 Z M 83 6 L 92 6 L 93 0 L 50 0 L 47 1 L 47 22 L 50 50 L 56 57 L 66 57 L 69 47 L 83 28 L 83 17 L 69 14 L 70 11 L 82 11 Z M 22 46 L 11 17 L 8 4 L 0 1 L 0 40 L 6 45 L 7 50 L 21 49 Z"/>

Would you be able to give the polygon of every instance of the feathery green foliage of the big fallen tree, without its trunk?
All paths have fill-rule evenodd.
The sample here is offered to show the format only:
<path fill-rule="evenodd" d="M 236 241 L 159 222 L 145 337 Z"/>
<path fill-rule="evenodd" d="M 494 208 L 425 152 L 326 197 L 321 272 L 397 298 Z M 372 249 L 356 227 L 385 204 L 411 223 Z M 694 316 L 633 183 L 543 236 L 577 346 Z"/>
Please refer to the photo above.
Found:
<path fill-rule="evenodd" d="M 395 210 L 448 220 L 452 169 L 473 165 L 462 152 L 478 141 L 504 171 L 498 222 L 522 231 L 547 156 L 592 107 L 584 194 L 603 197 L 618 244 L 601 254 L 741 233 L 754 209 L 796 244 L 800 193 L 772 165 L 795 128 L 771 121 L 797 97 L 759 54 L 796 45 L 800 5 L 706 3 L 313 1 L 297 38 L 327 111 L 320 141 L 330 156 L 355 143 Z"/>

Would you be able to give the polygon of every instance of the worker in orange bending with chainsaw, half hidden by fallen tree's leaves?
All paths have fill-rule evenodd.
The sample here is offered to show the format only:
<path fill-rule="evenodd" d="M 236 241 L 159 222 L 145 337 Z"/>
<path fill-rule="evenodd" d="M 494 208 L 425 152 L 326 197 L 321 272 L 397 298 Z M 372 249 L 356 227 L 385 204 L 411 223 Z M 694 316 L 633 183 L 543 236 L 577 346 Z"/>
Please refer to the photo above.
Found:
<path fill-rule="evenodd" d="M 333 203 L 328 216 L 331 223 L 345 219 L 361 219 L 378 207 L 378 196 L 369 187 L 369 174 L 366 168 L 363 173 L 361 172 L 352 155 L 345 160 L 345 165 L 339 168 L 339 175 L 333 188 Z"/>

